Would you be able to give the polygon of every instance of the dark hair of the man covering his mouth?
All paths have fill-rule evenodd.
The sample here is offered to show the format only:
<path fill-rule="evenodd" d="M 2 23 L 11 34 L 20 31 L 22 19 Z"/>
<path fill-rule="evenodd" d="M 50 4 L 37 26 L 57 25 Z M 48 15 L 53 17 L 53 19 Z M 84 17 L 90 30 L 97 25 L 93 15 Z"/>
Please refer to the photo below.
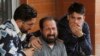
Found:
<path fill-rule="evenodd" d="M 69 6 L 68 14 L 70 15 L 74 12 L 79 13 L 79 14 L 85 14 L 84 5 L 78 2 L 74 2 L 71 6 Z"/>

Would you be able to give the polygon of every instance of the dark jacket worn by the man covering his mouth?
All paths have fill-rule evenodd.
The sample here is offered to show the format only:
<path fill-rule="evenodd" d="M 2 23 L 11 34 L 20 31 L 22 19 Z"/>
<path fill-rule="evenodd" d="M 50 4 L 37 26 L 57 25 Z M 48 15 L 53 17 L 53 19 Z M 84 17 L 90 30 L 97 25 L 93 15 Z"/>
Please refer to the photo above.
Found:
<path fill-rule="evenodd" d="M 64 16 L 57 26 L 59 38 L 64 41 L 68 56 L 87 56 L 91 54 L 90 30 L 86 22 L 82 28 L 84 35 L 80 38 L 72 34 L 67 16 Z"/>

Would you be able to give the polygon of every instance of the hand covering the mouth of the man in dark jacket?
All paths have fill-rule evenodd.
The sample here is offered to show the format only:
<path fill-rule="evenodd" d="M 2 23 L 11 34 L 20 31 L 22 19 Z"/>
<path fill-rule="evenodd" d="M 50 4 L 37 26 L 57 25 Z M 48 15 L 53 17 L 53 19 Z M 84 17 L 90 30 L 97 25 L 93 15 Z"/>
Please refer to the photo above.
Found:
<path fill-rule="evenodd" d="M 69 26 L 74 35 L 76 35 L 78 37 L 83 36 L 82 26 L 79 26 L 76 23 L 70 23 Z"/>

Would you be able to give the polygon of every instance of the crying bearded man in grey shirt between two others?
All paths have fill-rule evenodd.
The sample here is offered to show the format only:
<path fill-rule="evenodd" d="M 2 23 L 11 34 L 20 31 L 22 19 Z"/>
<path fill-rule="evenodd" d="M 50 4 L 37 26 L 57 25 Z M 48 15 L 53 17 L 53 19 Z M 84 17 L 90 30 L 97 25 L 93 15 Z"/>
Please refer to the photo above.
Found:
<path fill-rule="evenodd" d="M 53 17 L 44 17 L 39 22 L 42 48 L 34 56 L 67 56 L 66 49 L 57 37 L 57 25 Z"/>

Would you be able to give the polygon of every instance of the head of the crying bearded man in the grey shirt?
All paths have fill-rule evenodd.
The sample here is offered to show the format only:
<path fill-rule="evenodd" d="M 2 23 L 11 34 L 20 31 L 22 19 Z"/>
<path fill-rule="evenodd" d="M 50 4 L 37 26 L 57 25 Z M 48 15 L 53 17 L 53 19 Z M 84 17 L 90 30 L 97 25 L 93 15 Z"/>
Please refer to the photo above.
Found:
<path fill-rule="evenodd" d="M 57 40 L 57 25 L 53 17 L 44 17 L 39 22 L 42 38 L 48 44 L 54 43 Z"/>

